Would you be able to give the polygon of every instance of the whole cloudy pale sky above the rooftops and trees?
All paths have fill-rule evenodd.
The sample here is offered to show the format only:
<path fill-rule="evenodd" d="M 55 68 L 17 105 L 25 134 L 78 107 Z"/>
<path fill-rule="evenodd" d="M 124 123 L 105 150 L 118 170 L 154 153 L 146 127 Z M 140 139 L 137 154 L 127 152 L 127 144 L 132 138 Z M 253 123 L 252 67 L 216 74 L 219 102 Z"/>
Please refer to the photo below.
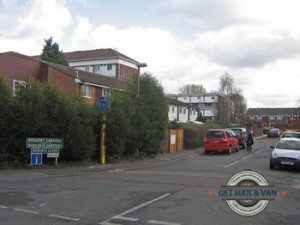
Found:
<path fill-rule="evenodd" d="M 0 0 L 0 52 L 114 48 L 165 93 L 219 89 L 228 73 L 248 108 L 300 107 L 298 0 Z"/>

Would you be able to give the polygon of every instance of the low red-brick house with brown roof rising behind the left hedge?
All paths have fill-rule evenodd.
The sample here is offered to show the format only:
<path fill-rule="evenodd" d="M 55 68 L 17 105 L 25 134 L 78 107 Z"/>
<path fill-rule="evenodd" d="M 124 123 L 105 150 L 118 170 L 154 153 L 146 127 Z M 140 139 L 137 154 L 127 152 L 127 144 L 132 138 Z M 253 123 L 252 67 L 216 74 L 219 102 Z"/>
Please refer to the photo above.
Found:
<path fill-rule="evenodd" d="M 28 79 L 53 84 L 65 92 L 78 93 L 92 104 L 113 90 L 124 90 L 126 83 L 68 66 L 41 61 L 16 52 L 0 53 L 0 74 L 14 92 Z"/>

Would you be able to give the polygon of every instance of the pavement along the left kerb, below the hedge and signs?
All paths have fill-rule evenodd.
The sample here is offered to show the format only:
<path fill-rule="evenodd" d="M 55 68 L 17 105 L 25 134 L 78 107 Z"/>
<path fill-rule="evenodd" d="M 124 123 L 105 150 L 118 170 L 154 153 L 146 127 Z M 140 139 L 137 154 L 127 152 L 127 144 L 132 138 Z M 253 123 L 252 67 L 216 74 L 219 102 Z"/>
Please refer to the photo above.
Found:
<path fill-rule="evenodd" d="M 266 136 L 254 137 L 254 139 L 262 139 Z M 193 158 L 202 153 L 202 148 L 182 150 L 172 153 L 158 154 L 154 157 L 145 157 L 141 159 L 121 160 L 116 163 L 94 164 L 87 166 L 72 166 L 72 167 L 39 167 L 34 166 L 29 169 L 16 169 L 16 170 L 0 170 L 1 179 L 37 179 L 49 177 L 67 177 L 67 176 L 81 176 L 95 173 L 112 173 L 125 170 L 136 170 L 147 167 L 154 167 L 170 162 L 176 162 Z M 30 176 L 28 176 L 30 173 Z"/>

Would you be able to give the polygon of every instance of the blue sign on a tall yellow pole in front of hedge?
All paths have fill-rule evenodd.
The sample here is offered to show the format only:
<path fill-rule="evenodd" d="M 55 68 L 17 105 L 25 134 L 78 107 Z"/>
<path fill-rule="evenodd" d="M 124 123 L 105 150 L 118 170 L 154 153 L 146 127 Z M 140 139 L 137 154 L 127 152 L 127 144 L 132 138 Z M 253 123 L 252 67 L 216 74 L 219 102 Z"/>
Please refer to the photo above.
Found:
<path fill-rule="evenodd" d="M 107 98 L 100 96 L 99 98 L 99 112 L 102 114 L 101 139 L 100 139 L 100 163 L 105 164 L 106 150 L 105 150 L 105 128 L 107 112 Z"/>

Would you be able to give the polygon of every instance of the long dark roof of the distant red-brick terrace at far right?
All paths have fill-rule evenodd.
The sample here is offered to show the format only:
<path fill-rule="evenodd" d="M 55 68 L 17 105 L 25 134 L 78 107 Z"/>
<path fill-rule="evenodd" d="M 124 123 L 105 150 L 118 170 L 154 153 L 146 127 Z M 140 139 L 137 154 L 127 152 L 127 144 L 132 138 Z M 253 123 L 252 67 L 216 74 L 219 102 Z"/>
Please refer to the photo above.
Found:
<path fill-rule="evenodd" d="M 249 108 L 247 115 L 300 115 L 300 108 Z"/>

